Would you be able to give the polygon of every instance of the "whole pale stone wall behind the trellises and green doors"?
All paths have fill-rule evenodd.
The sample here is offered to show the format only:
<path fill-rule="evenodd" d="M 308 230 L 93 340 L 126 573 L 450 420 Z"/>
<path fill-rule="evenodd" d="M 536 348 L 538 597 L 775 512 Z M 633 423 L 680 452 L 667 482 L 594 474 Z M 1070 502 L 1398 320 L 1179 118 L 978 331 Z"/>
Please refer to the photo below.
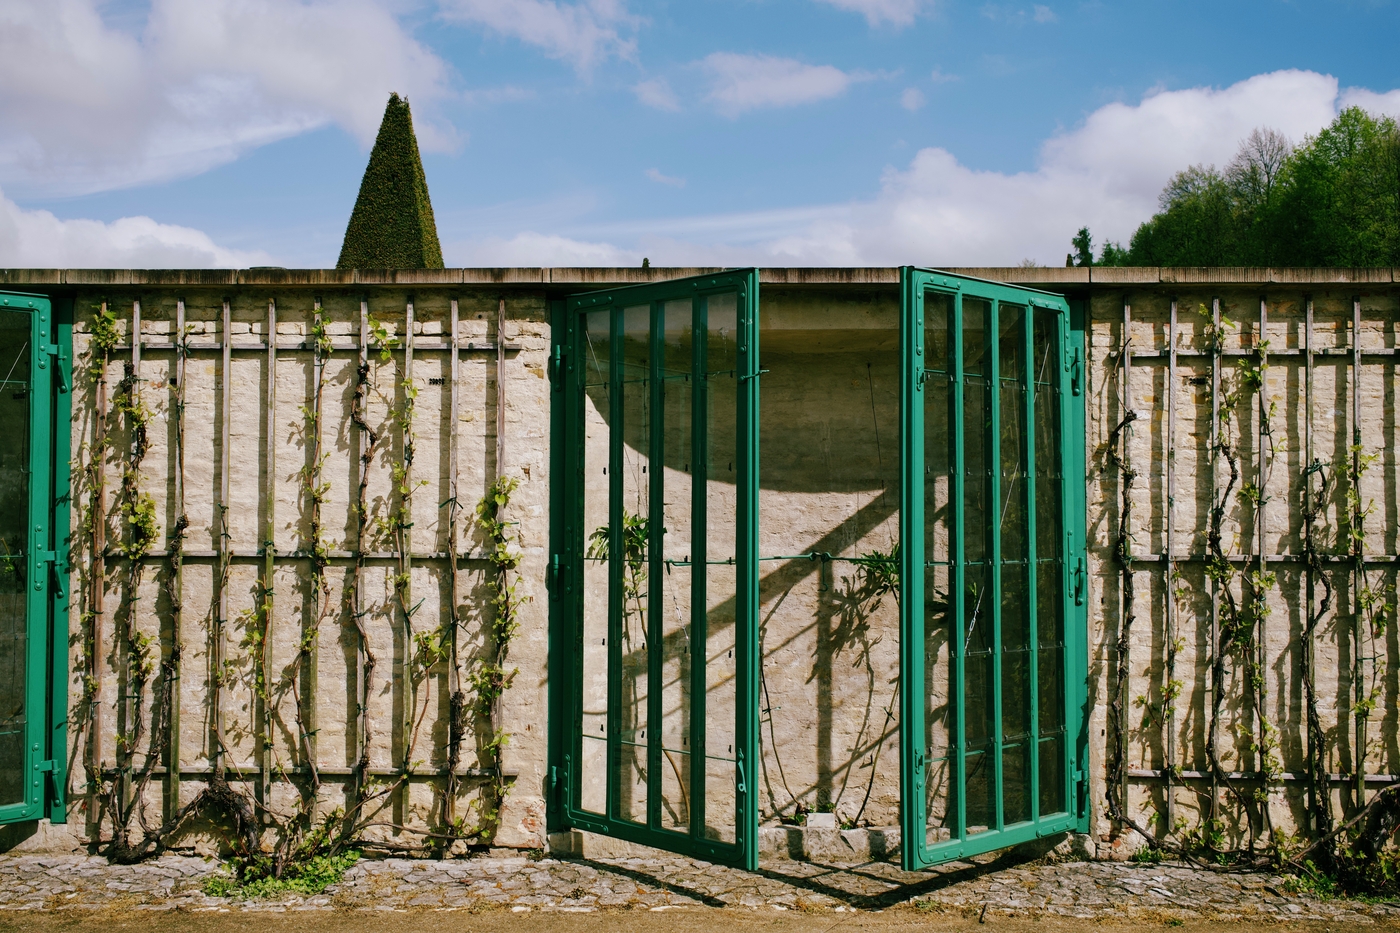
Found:
<path fill-rule="evenodd" d="M 406 591 L 412 595 L 407 608 L 413 633 L 433 632 L 452 611 L 445 553 L 455 549 L 466 555 L 459 562 L 458 601 L 468 622 L 461 633 L 461 664 L 466 670 L 487 650 L 483 633 L 490 621 L 489 566 L 480 560 L 480 534 L 469 517 L 487 485 L 504 472 L 521 481 L 507 517 L 518 523 L 511 528 L 522 555 L 519 591 L 531 601 L 521 609 L 521 629 L 511 646 L 510 665 L 518 674 L 505 693 L 500 721 L 510 733 L 504 759 L 511 792 L 497 842 L 542 845 L 549 677 L 546 301 L 602 284 L 697 272 L 444 270 L 389 275 L 384 280 L 360 273 L 273 270 L 4 273 L 4 287 L 71 294 L 77 307 L 73 586 L 84 597 L 74 600 L 70 644 L 73 829 L 87 838 L 105 832 L 105 803 L 85 793 L 85 768 L 95 763 L 94 773 L 111 780 L 119 763 L 118 745 L 133 734 L 137 712 L 146 726 L 134 742 L 132 766 L 139 770 L 153 748 L 150 721 L 153 709 L 160 707 L 160 665 L 174 644 L 167 586 L 171 574 L 162 548 L 178 514 L 175 399 L 181 389 L 189 530 L 179 622 L 179 800 L 189 800 L 207 780 L 216 742 L 210 706 L 217 692 L 227 762 L 237 765 L 251 785 L 259 783 L 266 768 L 270 804 L 294 806 L 297 782 L 305 783 L 307 766 L 297 724 L 300 691 L 302 714 L 314 710 L 309 714 L 323 797 L 319 806 L 328 811 L 343 804 L 357 761 L 357 677 L 363 667 L 356 663 L 356 616 L 344 608 L 344 594 L 356 566 L 354 552 L 365 551 L 358 619 L 375 657 L 367 713 L 371 769 L 388 779 L 406 758 L 414 772 L 409 790 L 385 811 L 382 822 L 416 829 L 438 825 L 449 675 L 442 663 L 423 671 L 413 660 L 419 647 L 407 632 L 395 584 L 403 569 L 392 513 L 402 497 L 399 486 L 406 485 L 412 493 L 407 534 L 414 558 Z M 1400 772 L 1400 639 L 1393 608 L 1394 555 L 1400 552 L 1394 454 L 1400 431 L 1394 416 L 1400 307 L 1390 270 L 1093 270 L 1096 280 L 1086 269 L 959 272 L 1063 291 L 1084 301 L 1088 311 L 1088 740 L 1095 836 L 1117 842 L 1119 850 L 1137 845 L 1133 834 L 1120 834 L 1124 822 L 1107 818 L 1109 780 L 1126 789 L 1120 815 L 1141 828 L 1177 835 L 1219 832 L 1228 845 L 1246 843 L 1252 832 L 1260 838 L 1271 829 L 1306 834 L 1312 825 L 1309 769 L 1331 776 L 1336 815 L 1352 811 L 1358 803 L 1358 720 L 1366 723 L 1366 786 L 1375 789 Z M 762 366 L 769 373 L 760 402 L 760 551 L 771 558 L 760 567 L 763 818 L 791 815 L 801 803 L 806 808 L 834 807 L 843 821 L 892 825 L 899 806 L 893 706 L 897 612 L 892 598 L 872 598 L 862 591 L 867 581 L 860 565 L 850 559 L 888 552 L 897 539 L 897 270 L 774 269 L 763 270 L 762 282 Z M 225 298 L 231 324 L 227 339 L 232 346 L 227 380 L 221 349 Z M 183 387 L 171 382 L 178 359 L 174 338 L 179 300 L 189 347 Z M 325 483 L 322 514 L 330 583 L 329 598 L 322 601 L 309 588 L 311 560 L 302 553 L 309 538 L 302 478 L 314 462 L 307 409 L 316 385 L 308 340 L 318 300 L 332 347 L 321 408 L 325 461 L 319 474 Z M 377 322 L 371 331 L 382 328 L 381 336 L 395 339 L 386 360 L 378 352 L 382 339 L 371 336 L 365 352 L 365 420 L 384 441 L 367 471 L 370 535 L 363 544 L 356 541 L 353 509 L 361 430 L 351 417 L 360 382 L 361 300 L 367 301 L 368 319 Z M 406 401 L 403 350 L 410 300 L 416 396 L 413 475 L 407 479 L 396 478 L 393 468 L 403 462 L 405 450 L 405 424 L 395 412 L 402 412 Z M 1211 314 L 1217 300 L 1222 315 L 1218 329 Z M 1316 350 L 1310 396 L 1303 353 L 1309 343 L 1309 300 L 1310 346 Z M 129 539 L 120 502 L 122 465 L 132 450 L 126 430 L 130 417 L 115 410 L 113 403 L 132 360 L 137 301 L 144 340 L 137 385 L 151 420 L 136 486 L 154 500 L 157 538 L 133 591 L 130 562 L 112 551 Z M 459 349 L 455 422 L 444 345 L 454 301 L 459 342 L 466 345 Z M 511 349 L 504 354 L 504 459 L 497 462 L 494 346 L 501 301 L 504 338 Z M 101 493 L 109 553 L 98 616 L 99 684 L 91 706 L 95 716 L 88 719 L 88 664 L 80 633 L 94 618 L 88 614 L 97 593 L 84 523 L 98 492 L 87 468 L 97 454 L 97 392 L 104 374 L 94 368 L 91 350 L 94 315 L 102 303 L 116 315 L 119 346 L 105 368 L 111 433 Z M 1267 318 L 1263 326 L 1261 305 Z M 266 350 L 270 307 L 276 310 L 279 347 L 272 406 Z M 1355 360 L 1350 349 L 1358 311 L 1362 353 Z M 1175 364 L 1166 353 L 1173 343 Z M 1266 343 L 1267 359 L 1260 354 Z M 1212 415 L 1212 398 L 1225 416 Z M 1358 410 L 1359 422 L 1354 424 Z M 1348 497 L 1351 474 L 1357 472 L 1354 427 L 1361 437 L 1355 462 L 1365 469 L 1355 486 L 1358 495 Z M 223 538 L 218 503 L 225 479 L 225 431 L 228 535 Z M 1218 438 L 1212 440 L 1212 431 L 1228 441 L 1229 455 Z M 1222 499 L 1231 457 L 1239 476 Z M 1322 466 L 1309 472 L 1313 459 Z M 466 510 L 455 545 L 448 541 L 447 504 L 454 476 L 456 502 Z M 1326 490 L 1317 496 L 1323 479 Z M 1317 500 L 1315 510 L 1305 509 L 1305 489 L 1315 490 L 1309 493 Z M 1351 534 L 1354 506 L 1365 516 L 1364 535 Z M 262 700 L 251 658 L 262 628 L 260 552 L 269 509 L 277 552 L 267 618 L 267 703 L 274 740 L 265 749 L 255 738 Z M 1308 542 L 1305 516 L 1310 511 L 1310 541 L 1319 555 L 1312 574 L 1312 611 L 1301 560 Z M 1212 523 L 1219 531 L 1214 563 L 1208 560 Z M 1364 574 L 1348 556 L 1354 542 L 1372 555 Z M 1133 558 L 1127 572 L 1116 556 L 1120 545 Z M 809 553 L 832 559 L 802 556 Z M 211 632 L 220 615 L 217 574 L 225 558 L 228 600 L 218 654 L 227 665 L 216 670 Z M 1326 612 L 1320 612 L 1323 579 L 1331 584 Z M 1133 600 L 1124 607 L 1128 583 Z M 1233 597 L 1233 609 L 1225 591 Z M 330 607 L 319 623 L 318 605 Z M 148 640 L 153 668 L 139 710 L 119 702 L 123 691 L 132 693 L 129 658 L 119 637 L 127 614 L 134 632 Z M 1233 639 L 1224 651 L 1222 632 L 1226 640 Z M 1120 640 L 1124 651 L 1119 650 Z M 316 657 L 314 689 L 304 644 L 312 644 Z M 1302 661 L 1309 644 L 1316 684 L 1312 706 L 1323 738 L 1317 755 L 1308 751 L 1309 702 Z M 1217 664 L 1222 654 L 1225 660 Z M 295 688 L 290 679 L 294 672 Z M 1212 720 L 1218 749 L 1214 765 Z M 473 813 L 472 801 L 489 783 L 476 752 L 490 730 L 487 723 L 475 726 L 462 754 L 459 814 Z M 94 737 L 98 762 L 88 759 Z M 167 787 L 165 772 L 157 768 L 147 789 L 153 820 L 162 807 L 176 804 L 167 799 Z M 1205 822 L 1212 799 L 1218 825 Z M 388 825 L 374 832 L 403 845 L 420 839 Z"/>

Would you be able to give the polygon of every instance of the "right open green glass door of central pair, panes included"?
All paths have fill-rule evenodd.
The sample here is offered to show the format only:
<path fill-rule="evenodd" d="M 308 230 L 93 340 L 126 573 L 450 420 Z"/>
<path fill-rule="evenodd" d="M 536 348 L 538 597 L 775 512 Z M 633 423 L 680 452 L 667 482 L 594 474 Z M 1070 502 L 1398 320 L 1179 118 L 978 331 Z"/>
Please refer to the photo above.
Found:
<path fill-rule="evenodd" d="M 906 869 L 1074 829 L 1082 329 L 1064 297 L 900 270 Z"/>

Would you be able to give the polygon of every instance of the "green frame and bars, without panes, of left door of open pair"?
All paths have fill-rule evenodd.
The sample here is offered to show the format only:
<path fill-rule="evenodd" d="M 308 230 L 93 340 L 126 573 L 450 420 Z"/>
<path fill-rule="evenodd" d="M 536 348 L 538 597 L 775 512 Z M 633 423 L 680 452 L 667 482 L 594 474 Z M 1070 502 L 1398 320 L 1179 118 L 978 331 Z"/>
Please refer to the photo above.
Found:
<path fill-rule="evenodd" d="M 666 528 L 664 517 L 664 476 L 665 469 L 655 468 L 665 464 L 664 450 L 665 433 L 654 426 L 648 429 L 645 451 L 647 461 L 654 465 L 647 483 L 648 516 L 652 518 L 645 527 L 645 556 L 637 560 L 638 567 L 645 563 L 647 580 L 661 580 L 664 574 L 673 569 L 708 567 L 714 565 L 732 565 L 735 567 L 734 593 L 734 706 L 735 721 L 732 723 L 734 756 L 722 758 L 714 749 L 707 748 L 710 738 L 707 728 L 713 720 L 706 712 L 707 692 L 713 686 L 707 681 L 708 612 L 707 612 L 707 577 L 703 573 L 686 573 L 690 583 L 690 615 L 689 615 L 689 741 L 687 748 L 680 755 L 689 755 L 692 765 L 689 769 L 687 787 L 682 790 L 686 796 L 687 825 L 664 827 L 661 808 L 662 785 L 662 755 L 668 758 L 676 755 L 676 749 L 662 747 L 662 653 L 652 650 L 647 653 L 645 682 L 647 712 L 645 721 L 651 723 L 650 730 L 641 731 L 644 738 L 637 741 L 637 735 L 629 733 L 629 754 L 636 755 L 637 747 L 645 749 L 645 821 L 624 818 L 620 807 L 620 762 L 623 742 L 623 723 L 620 713 L 622 682 L 622 625 L 626 612 L 623 597 L 623 563 L 617 555 L 626 553 L 623 541 L 624 507 L 623 507 L 623 319 L 624 310 L 650 310 L 647 333 L 650 335 L 648 374 L 641 378 L 648 394 L 652 417 L 664 417 L 664 382 L 678 378 L 665 370 L 665 331 L 668 305 L 675 310 L 678 303 L 689 301 L 689 322 L 693 335 L 707 335 L 708 307 L 717 296 L 735 296 L 735 340 L 736 356 L 734 370 L 724 373 L 724 378 L 732 378 L 735 388 L 735 553 L 731 559 L 715 560 L 714 555 L 707 556 L 707 465 L 706 454 L 710 443 L 708 426 L 708 394 L 707 388 L 717 374 L 710 371 L 707 360 L 707 339 L 694 336 L 692 343 L 692 357 L 685 378 L 692 382 L 690 401 L 690 441 L 692 468 L 690 488 L 692 528 L 689 539 L 693 553 L 686 559 L 668 559 L 662 546 L 662 535 Z M 683 307 L 683 305 L 682 305 Z M 630 842 L 637 842 L 659 849 L 680 852 L 697 856 L 710 862 L 732 864 L 749 870 L 757 869 L 759 850 L 759 818 L 757 818 L 757 772 L 759 772 L 759 637 L 757 637 L 757 462 L 759 462 L 759 389 L 757 389 L 757 360 L 759 360 L 759 277 L 757 270 L 735 270 L 720 275 L 694 276 L 676 279 L 658 284 L 629 286 L 622 289 L 608 289 L 573 296 L 567 301 L 552 303 L 552 332 L 553 332 L 553 360 L 552 381 L 553 401 L 550 406 L 550 678 L 549 678 L 549 831 L 561 832 L 566 829 L 585 829 Z M 585 381 L 588 366 L 585 359 L 587 333 L 585 317 L 605 312 L 609 321 L 609 373 L 605 377 L 608 385 L 608 408 L 605 416 L 609 423 L 609 465 L 608 476 L 584 474 L 585 459 Z M 631 318 L 629 318 L 631 319 Z M 629 325 L 631 326 L 631 325 Z M 699 378 L 690 374 L 701 374 Z M 636 377 L 631 384 L 636 385 Z M 609 489 L 608 524 L 603 535 L 594 535 L 595 530 L 585 527 L 585 483 L 606 482 Z M 598 530 L 602 531 L 602 530 Z M 678 530 L 685 531 L 685 530 Z M 589 541 L 605 542 L 603 556 L 598 558 L 598 551 L 589 553 Z M 612 559 L 609 559 L 609 555 Z M 584 808 L 584 629 L 585 629 L 585 593 L 584 574 L 587 560 L 602 560 L 608 563 L 608 636 L 603 642 L 608 647 L 608 705 L 606 705 L 606 804 L 599 808 Z M 662 605 L 659 600 L 645 601 L 645 643 L 658 646 L 662 637 Z M 725 726 L 729 726 L 725 723 Z M 734 813 L 707 813 L 706 790 L 707 769 L 713 762 L 717 768 L 732 766 L 734 780 Z M 672 761 L 675 768 L 675 762 Z M 680 769 L 675 768 L 678 780 Z M 725 780 L 721 778 L 721 782 Z M 713 780 L 708 783 L 713 789 Z M 713 810 L 713 807 L 710 807 Z M 727 827 L 724 832 L 715 832 L 715 825 Z"/>

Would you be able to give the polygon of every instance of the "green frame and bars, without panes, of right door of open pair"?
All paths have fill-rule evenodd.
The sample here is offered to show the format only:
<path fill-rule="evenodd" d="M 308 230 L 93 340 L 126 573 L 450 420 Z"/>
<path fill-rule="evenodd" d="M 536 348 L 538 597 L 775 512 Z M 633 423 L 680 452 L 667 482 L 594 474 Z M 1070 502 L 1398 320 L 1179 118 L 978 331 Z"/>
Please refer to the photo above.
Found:
<path fill-rule="evenodd" d="M 930 294 L 939 296 L 939 303 L 946 308 L 948 340 L 945 359 L 934 360 L 934 347 L 925 347 L 925 298 Z M 987 523 L 986 531 L 974 530 L 984 544 L 984 558 L 981 573 L 984 581 L 990 581 L 990 591 L 980 597 L 979 604 L 990 604 L 990 611 L 973 607 L 973 625 L 977 623 L 977 614 L 983 612 L 990 619 L 983 622 L 980 637 L 990 639 L 991 678 L 983 695 L 973 698 L 981 702 L 983 709 L 993 710 L 990 721 L 991 730 L 987 747 L 980 749 L 979 765 L 990 770 L 987 794 L 990 796 L 991 813 L 986 824 L 974 828 L 969 827 L 967 814 L 967 706 L 972 692 L 965 678 L 965 654 L 972 639 L 970 630 L 965 629 L 967 622 L 966 594 L 969 581 L 966 580 L 970 566 L 966 556 L 967 549 L 967 518 L 965 516 L 969 503 L 969 474 L 965 469 L 965 452 L 970 426 L 965 424 L 965 387 L 967 373 L 965 373 L 963 359 L 963 298 L 980 300 L 977 307 L 987 308 L 987 319 L 983 325 L 983 364 L 981 373 L 974 378 L 984 380 L 981 391 L 990 420 L 984 430 L 981 450 L 986 468 L 986 493 L 977 497 L 983 502 L 984 514 L 1001 516 L 998 521 Z M 984 304 L 981 304 L 984 303 Z M 1023 675 L 1029 681 L 1026 696 L 1030 710 L 1026 719 L 1029 735 L 1019 740 L 1002 734 L 1002 565 L 1009 566 L 1001 552 L 1001 527 L 1005 521 L 1005 511 L 1000 509 L 998 495 L 1001 482 L 1000 438 L 1001 438 L 1001 395 L 1002 377 L 998 373 L 1000 352 L 993 347 L 1000 346 L 998 311 L 1005 305 L 1014 305 L 1019 314 L 1019 345 L 1028 352 L 1022 354 L 1025 371 L 1012 378 L 1025 380 L 1021 385 L 1029 387 L 1023 391 L 1025 412 L 1025 447 L 1026 466 L 1025 489 L 1018 493 L 1025 496 L 1025 531 L 1022 535 L 1026 566 L 1026 590 L 1023 591 L 1028 618 L 1028 650 L 1030 661 L 1025 663 L 1029 674 Z M 1054 353 L 1054 366 L 1050 367 L 1053 377 L 1050 382 L 1037 382 L 1035 370 L 1035 353 L 1029 352 L 1035 346 L 1035 326 L 1039 318 L 1049 324 L 1047 315 L 1053 314 L 1054 336 L 1049 340 L 1049 349 Z M 1042 332 L 1043 333 L 1043 332 Z M 1044 339 L 1044 338 L 1042 338 Z M 925 353 L 927 350 L 927 353 Z M 1088 618 L 1085 608 L 1085 489 L 1084 483 L 1074 482 L 1074 478 L 1084 476 L 1084 398 L 1082 398 L 1082 359 L 1084 359 L 1084 325 L 1082 315 L 1072 315 L 1070 303 L 1058 294 L 1023 289 L 995 282 L 972 279 L 927 269 L 906 266 L 900 269 L 900 785 L 902 785 L 902 852 L 903 864 L 907 870 L 916 870 L 966 857 L 993 849 L 1029 842 L 1032 839 L 1060 834 L 1071 829 L 1084 831 L 1085 801 L 1084 775 L 1086 770 L 1086 665 L 1088 665 Z M 937 363 L 938 366 L 935 366 Z M 942 367 L 942 368 L 939 368 Z M 944 381 L 948 387 L 948 437 L 951 441 L 948 451 L 948 555 L 946 560 L 934 560 L 934 555 L 925 555 L 925 384 L 934 380 Z M 1040 387 L 1053 387 L 1058 391 L 1058 451 L 1035 451 L 1036 430 L 1036 396 Z M 1058 758 L 1061 770 L 1056 779 L 1060 782 L 1063 793 L 1060 801 L 1063 807 L 1056 811 L 1042 814 L 1039 778 L 1042 769 L 1042 755 L 1044 754 L 1040 726 L 1044 721 L 1043 710 L 1037 709 L 1037 668 L 1040 657 L 1046 653 L 1037 642 L 1037 601 L 1036 577 L 1039 562 L 1043 556 L 1036 552 L 1036 493 L 1035 475 L 1044 454 L 1058 458 L 1058 475 L 1061 496 L 1058 514 L 1061 516 L 1063 537 L 1060 542 L 1058 587 L 1063 607 L 1063 656 L 1058 658 L 1064 686 L 1060 691 L 1063 702 L 1063 717 L 1058 720 L 1061 738 L 1058 740 L 1063 754 L 1054 755 L 1051 744 L 1051 758 Z M 930 516 L 931 518 L 931 516 Z M 948 626 L 948 703 L 945 706 L 944 721 L 946 723 L 946 749 L 941 759 L 935 761 L 935 749 L 927 744 L 927 702 L 930 684 L 925 684 L 925 573 L 930 567 L 945 566 L 948 574 L 948 598 L 942 604 L 942 618 Z M 959 647 L 962 646 L 962 647 Z M 1053 667 L 1051 667 L 1053 670 Z M 976 689 L 976 688 L 972 688 Z M 987 695 L 990 693 L 990 695 Z M 986 716 L 986 713 L 983 713 Z M 984 720 L 986 721 L 986 720 Z M 1054 719 L 1051 721 L 1056 721 Z M 1004 741 L 1008 740 L 1009 741 Z M 1049 740 L 1054 742 L 1051 737 Z M 1014 747 L 1029 744 L 1032 752 L 1021 759 L 1028 775 L 1022 775 L 1022 793 L 1029 794 L 1025 804 L 1030 818 L 1008 821 L 1004 813 L 1005 804 L 1005 751 Z M 973 752 L 977 754 L 977 752 Z M 988 766 L 987 759 L 991 758 Z M 935 763 L 942 762 L 945 778 L 939 780 L 944 793 L 946 822 L 951 822 L 948 839 L 931 842 L 928 838 L 928 792 L 934 779 L 930 770 Z M 1029 776 L 1029 787 L 1025 787 L 1025 778 Z"/>

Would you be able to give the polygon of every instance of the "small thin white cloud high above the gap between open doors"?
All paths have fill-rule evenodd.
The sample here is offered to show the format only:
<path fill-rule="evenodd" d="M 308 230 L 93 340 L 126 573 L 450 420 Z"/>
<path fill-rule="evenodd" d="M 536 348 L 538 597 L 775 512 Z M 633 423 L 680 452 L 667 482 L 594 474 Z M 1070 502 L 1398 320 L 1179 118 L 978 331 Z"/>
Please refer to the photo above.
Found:
<path fill-rule="evenodd" d="M 701 62 L 718 111 L 738 116 L 764 106 L 792 106 L 837 97 L 855 76 L 830 64 L 804 64 L 767 55 L 714 52 Z"/>

